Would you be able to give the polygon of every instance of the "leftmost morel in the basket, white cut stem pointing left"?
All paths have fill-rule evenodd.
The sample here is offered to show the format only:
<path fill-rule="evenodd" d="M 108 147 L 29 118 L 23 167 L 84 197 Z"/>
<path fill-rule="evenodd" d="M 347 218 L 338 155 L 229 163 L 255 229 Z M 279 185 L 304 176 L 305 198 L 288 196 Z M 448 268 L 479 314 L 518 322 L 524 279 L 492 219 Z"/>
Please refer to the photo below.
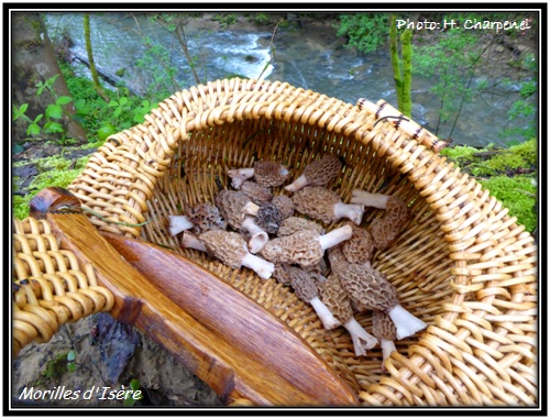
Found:
<path fill-rule="evenodd" d="M 191 230 L 194 234 L 200 234 L 209 230 L 226 230 L 227 221 L 221 216 L 218 207 L 202 202 L 187 210 L 187 216 L 168 216 L 168 231 L 172 236 L 184 230 Z"/>

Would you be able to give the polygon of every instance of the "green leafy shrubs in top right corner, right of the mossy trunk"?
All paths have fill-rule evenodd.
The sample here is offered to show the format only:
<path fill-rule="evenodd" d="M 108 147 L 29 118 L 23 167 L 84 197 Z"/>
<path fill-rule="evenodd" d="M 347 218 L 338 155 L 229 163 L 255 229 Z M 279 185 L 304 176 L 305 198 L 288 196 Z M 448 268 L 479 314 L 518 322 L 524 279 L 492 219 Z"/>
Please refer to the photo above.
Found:
<path fill-rule="evenodd" d="M 477 21 L 482 20 L 517 20 L 516 16 L 509 16 L 507 13 L 451 13 L 442 15 L 440 20 L 454 20 L 461 25 L 466 19 Z M 437 42 L 433 37 L 425 45 L 419 45 L 414 51 L 414 71 L 430 80 L 433 80 L 431 91 L 440 99 L 439 121 L 435 133 L 439 136 L 451 136 L 457 120 L 460 117 L 462 106 L 472 99 L 484 93 L 491 93 L 494 86 L 498 86 L 498 80 L 485 80 L 477 86 L 473 86 L 472 80 L 477 66 L 484 66 L 485 73 L 491 74 L 491 45 L 496 44 L 499 38 L 509 36 L 510 32 L 494 34 L 488 42 L 482 42 L 483 31 L 463 31 L 454 30 L 438 34 Z M 493 59 L 493 62 L 495 62 Z M 504 63 L 498 62 L 498 65 Z M 537 64 L 532 56 L 525 57 L 518 63 L 518 67 L 532 75 L 529 79 L 515 81 L 519 85 L 518 99 L 509 107 L 507 113 L 509 120 L 516 118 L 530 118 L 536 112 L 536 92 L 537 84 Z M 512 84 L 504 80 L 503 85 Z M 441 134 L 446 123 L 450 123 L 450 132 Z M 447 130 L 447 128 L 446 128 Z M 501 137 L 519 137 L 521 141 L 537 134 L 536 120 L 528 129 L 507 129 L 502 128 Z"/>

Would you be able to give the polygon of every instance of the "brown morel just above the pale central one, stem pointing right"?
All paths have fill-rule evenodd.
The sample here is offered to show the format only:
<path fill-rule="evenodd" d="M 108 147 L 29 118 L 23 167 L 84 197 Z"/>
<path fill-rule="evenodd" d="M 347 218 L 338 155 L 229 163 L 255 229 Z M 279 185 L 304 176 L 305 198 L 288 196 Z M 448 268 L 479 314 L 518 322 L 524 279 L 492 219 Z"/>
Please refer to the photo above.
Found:
<path fill-rule="evenodd" d="M 307 186 L 293 196 L 296 210 L 326 223 L 348 218 L 360 224 L 364 207 L 343 203 L 340 196 L 332 190 L 320 186 Z"/>

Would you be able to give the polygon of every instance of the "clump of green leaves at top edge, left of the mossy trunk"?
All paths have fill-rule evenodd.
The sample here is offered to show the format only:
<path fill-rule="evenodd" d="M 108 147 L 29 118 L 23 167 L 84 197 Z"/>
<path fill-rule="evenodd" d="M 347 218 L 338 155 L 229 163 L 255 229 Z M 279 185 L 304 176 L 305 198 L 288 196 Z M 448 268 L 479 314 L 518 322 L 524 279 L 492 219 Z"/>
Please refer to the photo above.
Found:
<path fill-rule="evenodd" d="M 387 42 L 388 31 L 388 13 L 354 13 L 340 15 L 337 35 L 346 36 L 349 45 L 369 54 Z"/>

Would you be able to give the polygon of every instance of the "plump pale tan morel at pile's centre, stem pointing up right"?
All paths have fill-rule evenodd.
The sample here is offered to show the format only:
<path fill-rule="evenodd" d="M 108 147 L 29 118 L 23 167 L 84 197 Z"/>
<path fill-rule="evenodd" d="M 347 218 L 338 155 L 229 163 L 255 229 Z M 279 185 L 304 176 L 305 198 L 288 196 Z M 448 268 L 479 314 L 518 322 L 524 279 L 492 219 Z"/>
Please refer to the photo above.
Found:
<path fill-rule="evenodd" d="M 350 239 L 351 234 L 350 225 L 343 225 L 322 235 L 316 231 L 302 230 L 268 241 L 261 254 L 274 263 L 297 263 L 311 266 L 321 261 L 327 249 Z"/>

